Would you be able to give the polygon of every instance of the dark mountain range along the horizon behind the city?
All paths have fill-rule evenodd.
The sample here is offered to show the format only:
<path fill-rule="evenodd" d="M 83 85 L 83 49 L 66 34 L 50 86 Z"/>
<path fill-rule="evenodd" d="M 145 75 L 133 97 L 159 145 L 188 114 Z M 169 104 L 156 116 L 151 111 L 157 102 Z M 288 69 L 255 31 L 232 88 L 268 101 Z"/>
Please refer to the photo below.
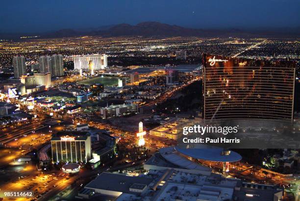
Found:
<path fill-rule="evenodd" d="M 1 34 L 0 39 L 15 39 L 29 34 Z M 30 34 L 34 35 L 34 34 Z M 300 27 L 296 28 L 256 28 L 256 29 L 196 29 L 158 22 L 144 22 L 137 25 L 119 24 L 86 29 L 61 29 L 55 32 L 40 33 L 41 38 L 71 36 L 198 36 L 198 37 L 269 37 L 299 38 Z"/>

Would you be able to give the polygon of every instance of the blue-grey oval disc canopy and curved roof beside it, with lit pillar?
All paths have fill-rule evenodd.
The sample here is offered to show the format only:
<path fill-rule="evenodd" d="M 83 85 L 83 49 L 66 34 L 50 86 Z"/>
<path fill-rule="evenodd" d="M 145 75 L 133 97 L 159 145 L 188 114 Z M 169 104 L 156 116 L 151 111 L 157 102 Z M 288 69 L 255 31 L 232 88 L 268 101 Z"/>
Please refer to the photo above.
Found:
<path fill-rule="evenodd" d="M 197 148 L 185 149 L 179 146 L 165 147 L 159 149 L 144 164 L 145 170 L 161 170 L 174 168 L 175 170 L 187 169 L 194 173 L 202 175 L 210 174 L 211 169 L 203 166 L 201 160 L 222 162 L 224 176 L 229 174 L 229 164 L 242 159 L 242 156 L 235 151 L 228 151 L 222 148 L 200 145 Z"/>

